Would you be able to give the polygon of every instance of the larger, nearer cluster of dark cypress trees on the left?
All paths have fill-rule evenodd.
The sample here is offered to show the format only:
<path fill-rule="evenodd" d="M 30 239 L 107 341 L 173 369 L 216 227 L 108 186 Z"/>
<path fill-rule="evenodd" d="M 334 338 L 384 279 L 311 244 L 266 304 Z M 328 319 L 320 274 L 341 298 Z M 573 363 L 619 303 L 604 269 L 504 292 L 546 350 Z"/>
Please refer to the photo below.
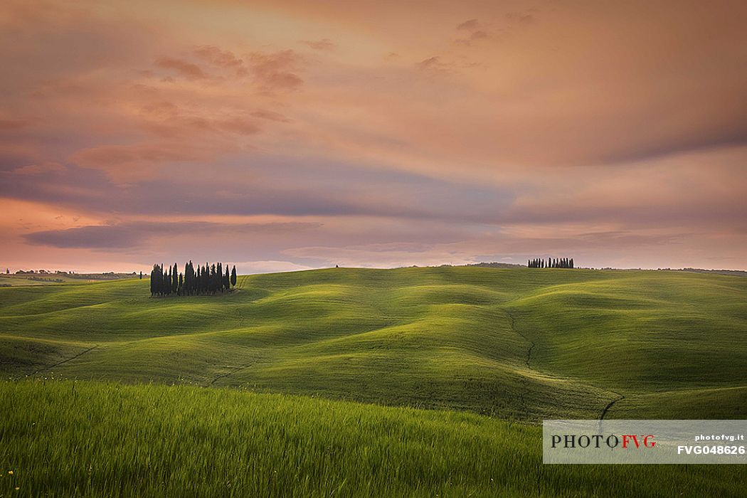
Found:
<path fill-rule="evenodd" d="M 236 267 L 229 273 L 223 272 L 223 264 L 208 264 L 197 267 L 195 270 L 192 261 L 185 264 L 184 273 L 179 273 L 179 267 L 174 263 L 168 271 L 164 271 L 164 265 L 153 265 L 150 272 L 150 295 L 168 296 L 199 296 L 200 294 L 214 294 L 231 290 L 236 285 Z"/>

